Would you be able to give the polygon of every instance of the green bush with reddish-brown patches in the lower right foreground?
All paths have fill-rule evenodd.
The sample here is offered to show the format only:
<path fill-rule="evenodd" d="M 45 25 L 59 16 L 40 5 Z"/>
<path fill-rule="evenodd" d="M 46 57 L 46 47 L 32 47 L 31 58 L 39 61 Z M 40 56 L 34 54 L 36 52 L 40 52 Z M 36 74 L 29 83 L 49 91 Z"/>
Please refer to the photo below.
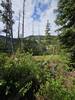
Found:
<path fill-rule="evenodd" d="M 43 96 L 46 100 L 75 100 L 75 79 L 65 76 L 67 70 L 68 66 L 57 66 L 55 77 L 53 77 L 50 71 L 46 69 L 42 75 L 45 76 L 42 77 L 44 83 L 42 81 L 37 95 Z"/>

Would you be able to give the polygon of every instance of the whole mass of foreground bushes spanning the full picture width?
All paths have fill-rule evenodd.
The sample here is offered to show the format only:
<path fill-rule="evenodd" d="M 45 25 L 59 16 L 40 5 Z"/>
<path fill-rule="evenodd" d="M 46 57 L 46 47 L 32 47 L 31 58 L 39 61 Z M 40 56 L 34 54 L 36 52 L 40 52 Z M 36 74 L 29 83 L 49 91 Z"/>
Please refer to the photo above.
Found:
<path fill-rule="evenodd" d="M 75 100 L 75 79 L 65 75 L 65 64 L 57 64 L 52 75 L 48 64 L 19 52 L 9 57 L 0 55 L 0 63 L 0 100 L 36 100 L 37 96 L 46 100 Z"/>

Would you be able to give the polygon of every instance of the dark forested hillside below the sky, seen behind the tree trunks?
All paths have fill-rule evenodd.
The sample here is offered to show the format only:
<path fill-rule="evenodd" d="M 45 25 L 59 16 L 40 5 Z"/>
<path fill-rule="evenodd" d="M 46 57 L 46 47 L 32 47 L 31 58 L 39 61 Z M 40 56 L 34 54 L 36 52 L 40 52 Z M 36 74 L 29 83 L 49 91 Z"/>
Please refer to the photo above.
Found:
<path fill-rule="evenodd" d="M 51 47 L 57 46 L 59 44 L 59 40 L 57 36 L 50 36 L 50 44 Z M 5 46 L 6 46 L 6 37 L 0 36 L 0 51 L 6 52 Z M 17 49 L 21 49 L 21 38 L 13 38 L 13 46 L 14 46 L 14 52 L 17 51 Z M 24 51 L 30 52 L 33 55 L 43 55 L 47 54 L 48 50 L 46 48 L 45 43 L 45 36 L 29 36 L 24 38 Z M 51 50 L 52 52 L 52 50 Z"/>

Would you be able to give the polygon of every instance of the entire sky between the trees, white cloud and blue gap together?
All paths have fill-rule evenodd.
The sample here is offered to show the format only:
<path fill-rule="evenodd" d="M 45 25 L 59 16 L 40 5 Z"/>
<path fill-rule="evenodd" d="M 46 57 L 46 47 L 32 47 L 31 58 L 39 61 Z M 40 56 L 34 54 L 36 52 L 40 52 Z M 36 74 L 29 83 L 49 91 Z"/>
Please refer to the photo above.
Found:
<path fill-rule="evenodd" d="M 0 0 L 1 1 L 1 0 Z M 22 8 L 23 0 L 12 0 L 13 4 L 13 19 L 15 24 L 13 25 L 13 35 L 18 35 L 18 21 L 19 11 L 21 12 L 21 28 L 22 33 Z M 50 22 L 51 34 L 57 35 L 55 30 L 57 25 L 55 24 L 56 14 L 54 10 L 57 9 L 57 0 L 26 0 L 25 2 L 25 31 L 24 36 L 30 35 L 44 35 L 47 20 Z M 3 28 L 2 22 L 0 22 L 0 29 Z"/>

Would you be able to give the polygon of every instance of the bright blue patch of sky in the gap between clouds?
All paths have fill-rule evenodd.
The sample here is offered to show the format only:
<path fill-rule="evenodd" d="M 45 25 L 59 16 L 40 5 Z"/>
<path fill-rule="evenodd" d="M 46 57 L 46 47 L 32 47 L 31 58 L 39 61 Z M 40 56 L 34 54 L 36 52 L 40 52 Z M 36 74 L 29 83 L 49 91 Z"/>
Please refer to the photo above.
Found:
<path fill-rule="evenodd" d="M 31 16 L 32 19 L 35 21 L 40 20 L 41 14 L 43 12 L 45 12 L 46 10 L 48 10 L 50 3 L 51 3 L 51 0 L 48 0 L 48 2 L 46 2 L 46 3 L 44 1 L 43 2 L 41 2 L 41 1 L 36 2 L 35 6 L 34 6 L 33 14 Z"/>

